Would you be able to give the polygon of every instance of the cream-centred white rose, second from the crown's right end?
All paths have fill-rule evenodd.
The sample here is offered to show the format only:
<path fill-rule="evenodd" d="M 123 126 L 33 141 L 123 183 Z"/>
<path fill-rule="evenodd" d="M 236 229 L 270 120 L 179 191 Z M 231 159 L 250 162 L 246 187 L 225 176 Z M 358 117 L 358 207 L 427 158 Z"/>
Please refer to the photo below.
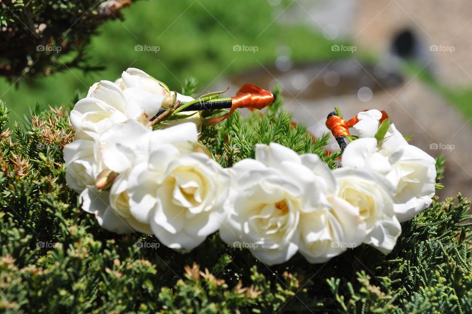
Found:
<path fill-rule="evenodd" d="M 402 232 L 393 209 L 393 186 L 374 171 L 338 168 L 333 175 L 338 185 L 337 196 L 356 207 L 366 224 L 364 243 L 384 254 L 390 253 Z"/>

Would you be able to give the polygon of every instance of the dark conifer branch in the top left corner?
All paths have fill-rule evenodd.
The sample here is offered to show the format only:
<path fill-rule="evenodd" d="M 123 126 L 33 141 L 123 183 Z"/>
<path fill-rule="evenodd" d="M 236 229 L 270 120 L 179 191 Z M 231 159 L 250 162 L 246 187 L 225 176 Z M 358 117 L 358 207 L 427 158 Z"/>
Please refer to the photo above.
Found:
<path fill-rule="evenodd" d="M 30 80 L 67 68 L 96 70 L 85 48 L 132 0 L 0 0 L 0 76 Z M 66 57 L 66 59 L 64 58 Z"/>

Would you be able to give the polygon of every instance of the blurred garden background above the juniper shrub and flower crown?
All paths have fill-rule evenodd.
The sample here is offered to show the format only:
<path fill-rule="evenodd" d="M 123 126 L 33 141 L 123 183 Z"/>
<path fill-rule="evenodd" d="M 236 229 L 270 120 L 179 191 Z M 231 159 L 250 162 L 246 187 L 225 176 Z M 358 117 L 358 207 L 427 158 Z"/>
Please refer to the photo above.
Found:
<path fill-rule="evenodd" d="M 190 77 L 228 95 L 279 83 L 315 135 L 334 106 L 347 118 L 385 110 L 412 144 L 445 155 L 441 197 L 472 196 L 470 1 L 75 2 L 0 3 L 0 99 L 13 120 L 35 104 L 70 109 L 128 67 L 177 91 Z"/>

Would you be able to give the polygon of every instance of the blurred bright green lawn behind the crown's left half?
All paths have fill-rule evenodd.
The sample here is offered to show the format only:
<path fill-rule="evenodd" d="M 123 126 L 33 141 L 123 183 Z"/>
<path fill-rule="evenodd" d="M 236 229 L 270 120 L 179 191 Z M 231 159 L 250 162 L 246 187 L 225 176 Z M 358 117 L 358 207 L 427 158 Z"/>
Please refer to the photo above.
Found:
<path fill-rule="evenodd" d="M 283 46 L 290 48 L 294 62 L 352 56 L 349 52 L 333 54 L 333 43 L 308 26 L 281 25 L 276 18 L 288 3 L 284 0 L 271 6 L 266 0 L 138 1 L 123 10 L 123 21 L 102 25 L 92 39 L 90 63 L 105 66 L 105 70 L 88 74 L 66 70 L 32 85 L 20 82 L 18 88 L 2 79 L 0 98 L 13 111 L 11 118 L 19 120 L 35 102 L 70 106 L 76 92 L 85 94 L 99 80 L 113 81 L 130 66 L 145 70 L 172 89 L 180 90 L 181 82 L 188 77 L 195 77 L 205 89 L 224 76 L 273 64 Z M 157 46 L 159 51 L 136 51 L 136 45 Z M 256 46 L 258 51 L 234 51 L 234 45 Z"/>

